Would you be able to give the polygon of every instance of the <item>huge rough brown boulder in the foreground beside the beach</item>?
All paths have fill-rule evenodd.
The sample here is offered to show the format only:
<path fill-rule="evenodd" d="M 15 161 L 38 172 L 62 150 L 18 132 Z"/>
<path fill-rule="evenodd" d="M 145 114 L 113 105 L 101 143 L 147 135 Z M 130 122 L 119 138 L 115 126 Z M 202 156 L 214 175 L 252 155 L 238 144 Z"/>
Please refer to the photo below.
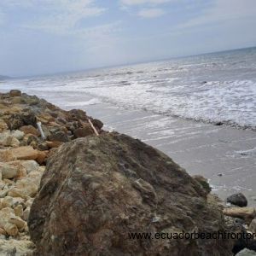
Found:
<path fill-rule="evenodd" d="M 28 219 L 35 255 L 232 255 L 229 240 L 129 239 L 226 230 L 218 204 L 165 154 L 117 133 L 61 145 Z"/>

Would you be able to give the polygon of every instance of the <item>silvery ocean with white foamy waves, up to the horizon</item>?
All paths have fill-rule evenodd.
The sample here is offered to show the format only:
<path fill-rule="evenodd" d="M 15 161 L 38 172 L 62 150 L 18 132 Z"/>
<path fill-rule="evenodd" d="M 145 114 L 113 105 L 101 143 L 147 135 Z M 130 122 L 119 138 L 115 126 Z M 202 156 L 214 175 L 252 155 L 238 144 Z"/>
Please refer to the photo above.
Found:
<path fill-rule="evenodd" d="M 256 48 L 14 79 L 1 88 L 19 88 L 45 98 L 57 92 L 67 102 L 55 98 L 55 103 L 71 108 L 108 102 L 163 116 L 256 128 Z M 74 103 L 76 95 L 91 98 Z"/>

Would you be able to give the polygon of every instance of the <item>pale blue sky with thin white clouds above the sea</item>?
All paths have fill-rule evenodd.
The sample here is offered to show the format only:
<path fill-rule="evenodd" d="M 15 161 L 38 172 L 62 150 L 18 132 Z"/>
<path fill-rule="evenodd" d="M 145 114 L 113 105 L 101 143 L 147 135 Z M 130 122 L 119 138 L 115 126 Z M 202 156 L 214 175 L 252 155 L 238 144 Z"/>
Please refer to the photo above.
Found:
<path fill-rule="evenodd" d="M 0 0 L 0 74 L 256 46 L 256 0 Z"/>

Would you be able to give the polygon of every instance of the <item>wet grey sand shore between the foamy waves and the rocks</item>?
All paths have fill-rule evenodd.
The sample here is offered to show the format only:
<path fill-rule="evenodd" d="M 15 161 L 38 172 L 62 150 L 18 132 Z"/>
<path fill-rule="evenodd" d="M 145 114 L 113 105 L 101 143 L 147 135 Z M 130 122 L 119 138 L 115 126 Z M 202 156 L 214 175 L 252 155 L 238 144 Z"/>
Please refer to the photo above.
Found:
<path fill-rule="evenodd" d="M 104 129 L 137 137 L 171 156 L 190 175 L 207 177 L 213 192 L 222 199 L 242 192 L 247 196 L 249 206 L 256 206 L 254 131 L 117 108 L 103 102 L 90 105 L 86 102 L 91 101 L 91 96 L 26 92 L 44 97 L 64 109 L 84 109 L 89 115 L 101 119 Z"/>

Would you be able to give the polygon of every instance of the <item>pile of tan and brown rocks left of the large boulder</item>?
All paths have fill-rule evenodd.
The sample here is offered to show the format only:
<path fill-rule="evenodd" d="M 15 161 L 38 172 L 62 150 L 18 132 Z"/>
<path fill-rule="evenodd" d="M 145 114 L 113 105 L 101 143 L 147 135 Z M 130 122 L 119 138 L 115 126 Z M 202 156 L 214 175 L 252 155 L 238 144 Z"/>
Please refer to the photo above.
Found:
<path fill-rule="evenodd" d="M 102 125 L 20 90 L 0 94 L 0 255 L 32 253 L 26 221 L 46 160 L 62 143 L 102 133 Z"/>

